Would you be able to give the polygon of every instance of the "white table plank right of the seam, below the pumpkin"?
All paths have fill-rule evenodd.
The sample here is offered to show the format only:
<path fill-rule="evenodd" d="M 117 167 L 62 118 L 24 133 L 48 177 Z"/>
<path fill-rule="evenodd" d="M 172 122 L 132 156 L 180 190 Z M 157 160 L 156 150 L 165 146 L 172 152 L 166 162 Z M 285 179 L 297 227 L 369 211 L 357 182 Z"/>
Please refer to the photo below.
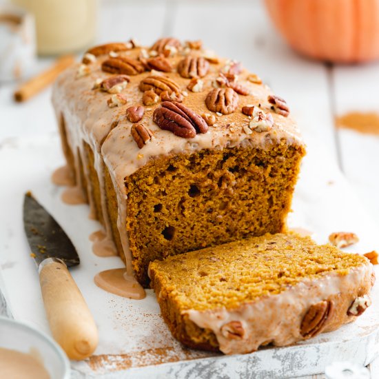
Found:
<path fill-rule="evenodd" d="M 335 66 L 333 89 L 336 115 L 379 113 L 379 63 Z M 345 129 L 338 130 L 337 135 L 342 170 L 379 225 L 379 136 Z"/>

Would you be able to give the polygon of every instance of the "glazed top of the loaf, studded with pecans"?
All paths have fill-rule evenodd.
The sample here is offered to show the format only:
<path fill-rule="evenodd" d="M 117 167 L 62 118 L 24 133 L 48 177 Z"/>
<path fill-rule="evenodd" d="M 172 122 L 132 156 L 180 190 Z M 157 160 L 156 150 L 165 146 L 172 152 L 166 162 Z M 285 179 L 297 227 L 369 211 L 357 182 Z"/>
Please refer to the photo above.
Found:
<path fill-rule="evenodd" d="M 65 118 L 72 150 L 88 142 L 116 181 L 164 154 L 269 148 L 276 141 L 303 145 L 285 101 L 256 74 L 199 41 L 92 48 L 59 76 L 53 103 Z"/>

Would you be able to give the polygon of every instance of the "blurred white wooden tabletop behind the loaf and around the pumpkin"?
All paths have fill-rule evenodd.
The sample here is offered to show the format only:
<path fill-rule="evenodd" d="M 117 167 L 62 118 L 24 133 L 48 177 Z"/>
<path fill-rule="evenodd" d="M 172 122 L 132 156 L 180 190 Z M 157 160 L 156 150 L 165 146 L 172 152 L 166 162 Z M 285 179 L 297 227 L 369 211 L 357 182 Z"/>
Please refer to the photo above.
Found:
<path fill-rule="evenodd" d="M 328 150 L 338 161 L 379 225 L 379 138 L 334 127 L 338 114 L 354 110 L 379 112 L 379 63 L 327 67 L 298 57 L 278 37 L 258 0 L 101 3 L 97 42 L 135 37 L 150 44 L 163 35 L 202 39 L 218 54 L 242 61 L 257 72 L 287 99 L 309 148 Z M 49 64 L 50 59 L 40 59 L 35 71 Z M 13 90 L 12 83 L 0 84 L 0 147 L 6 139 L 54 133 L 50 89 L 25 104 L 12 101 Z M 314 145 L 314 134 L 322 134 L 322 145 Z M 379 378 L 379 360 L 371 363 L 370 370 L 371 378 Z"/>

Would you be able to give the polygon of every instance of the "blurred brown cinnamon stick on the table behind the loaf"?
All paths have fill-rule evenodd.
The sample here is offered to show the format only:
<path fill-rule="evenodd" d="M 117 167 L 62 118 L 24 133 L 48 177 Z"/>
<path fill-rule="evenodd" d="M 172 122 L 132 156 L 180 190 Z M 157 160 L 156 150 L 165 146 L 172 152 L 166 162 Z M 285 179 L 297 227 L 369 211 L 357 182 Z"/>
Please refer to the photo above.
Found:
<path fill-rule="evenodd" d="M 30 97 L 51 84 L 57 76 L 65 70 L 65 68 L 72 65 L 72 63 L 74 63 L 74 56 L 64 55 L 60 57 L 51 68 L 21 84 L 16 92 L 14 92 L 14 100 L 21 102 L 30 99 Z"/>

